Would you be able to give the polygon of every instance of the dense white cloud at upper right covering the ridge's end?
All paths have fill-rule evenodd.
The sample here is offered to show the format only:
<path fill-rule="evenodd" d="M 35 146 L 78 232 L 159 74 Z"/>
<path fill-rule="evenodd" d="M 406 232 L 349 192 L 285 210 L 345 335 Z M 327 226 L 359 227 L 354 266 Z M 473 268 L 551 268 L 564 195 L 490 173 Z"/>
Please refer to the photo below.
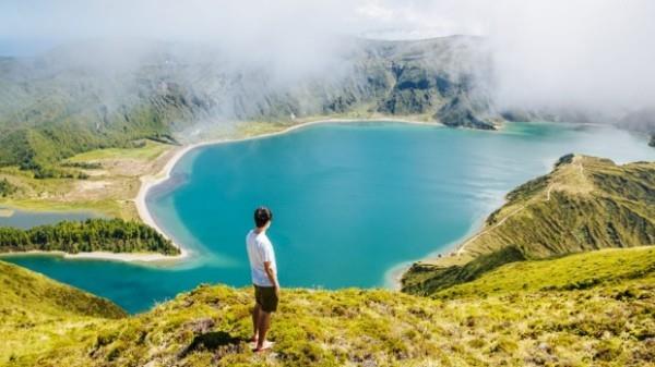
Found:
<path fill-rule="evenodd" d="M 620 113 L 655 103 L 655 2 L 505 1 L 492 11 L 497 97 Z"/>

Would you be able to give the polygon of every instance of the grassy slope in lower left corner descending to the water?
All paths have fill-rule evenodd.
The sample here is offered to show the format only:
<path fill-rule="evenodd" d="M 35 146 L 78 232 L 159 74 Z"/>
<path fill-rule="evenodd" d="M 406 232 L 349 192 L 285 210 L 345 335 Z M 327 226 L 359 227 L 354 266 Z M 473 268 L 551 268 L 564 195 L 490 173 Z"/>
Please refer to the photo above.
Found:
<path fill-rule="evenodd" d="M 63 352 L 107 319 L 126 316 L 109 301 L 2 261 L 0 284 L 0 365 L 17 356 L 31 365 L 39 353 Z"/>

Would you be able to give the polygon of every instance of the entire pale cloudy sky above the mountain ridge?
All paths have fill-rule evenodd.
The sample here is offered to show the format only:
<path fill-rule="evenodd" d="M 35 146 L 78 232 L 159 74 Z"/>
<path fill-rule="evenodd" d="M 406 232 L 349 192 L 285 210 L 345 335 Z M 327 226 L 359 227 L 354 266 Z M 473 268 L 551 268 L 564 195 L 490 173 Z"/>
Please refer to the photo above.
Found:
<path fill-rule="evenodd" d="M 501 103 L 623 111 L 655 100 L 654 19 L 651 0 L 3 0 L 0 54 L 88 38 L 202 40 L 301 70 L 337 52 L 340 36 L 478 35 Z"/>

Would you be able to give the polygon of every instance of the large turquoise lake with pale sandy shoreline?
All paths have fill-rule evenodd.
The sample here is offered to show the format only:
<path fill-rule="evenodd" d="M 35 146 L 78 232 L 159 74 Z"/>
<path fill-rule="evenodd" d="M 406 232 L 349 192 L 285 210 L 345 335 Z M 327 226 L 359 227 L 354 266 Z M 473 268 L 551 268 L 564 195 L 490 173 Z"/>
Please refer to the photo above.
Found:
<path fill-rule="evenodd" d="M 245 236 L 252 210 L 266 205 L 283 286 L 388 286 L 394 267 L 448 250 L 569 152 L 655 160 L 644 136 L 597 125 L 320 124 L 182 157 L 147 197 L 155 220 L 192 252 L 179 265 L 7 259 L 141 311 L 203 282 L 250 284 Z"/>

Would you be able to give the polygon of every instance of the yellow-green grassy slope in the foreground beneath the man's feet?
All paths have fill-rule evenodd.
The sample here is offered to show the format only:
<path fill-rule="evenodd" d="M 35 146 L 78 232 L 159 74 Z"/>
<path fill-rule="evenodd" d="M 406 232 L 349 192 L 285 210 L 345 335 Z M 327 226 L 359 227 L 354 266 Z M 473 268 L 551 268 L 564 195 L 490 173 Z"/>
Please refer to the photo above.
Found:
<path fill-rule="evenodd" d="M 62 320 L 66 347 L 26 342 L 8 365 L 653 366 L 654 257 L 655 249 L 640 247 L 505 265 L 438 299 L 284 290 L 267 355 L 243 341 L 251 291 L 205 285 L 128 319 Z M 594 277 L 599 281 L 575 286 Z M 40 332 L 22 335 L 34 341 Z M 28 355 L 29 347 L 41 353 Z"/>

